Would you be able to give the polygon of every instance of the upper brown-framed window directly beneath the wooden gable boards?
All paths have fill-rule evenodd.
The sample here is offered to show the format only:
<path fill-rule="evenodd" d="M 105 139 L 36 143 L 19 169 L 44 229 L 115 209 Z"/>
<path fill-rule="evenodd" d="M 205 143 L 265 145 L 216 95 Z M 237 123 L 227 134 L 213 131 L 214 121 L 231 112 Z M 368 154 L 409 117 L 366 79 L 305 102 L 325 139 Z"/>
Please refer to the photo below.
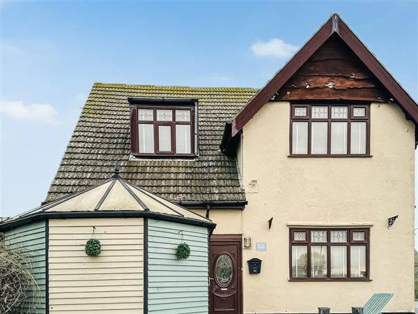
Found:
<path fill-rule="evenodd" d="M 369 156 L 369 105 L 292 104 L 291 156 Z"/>

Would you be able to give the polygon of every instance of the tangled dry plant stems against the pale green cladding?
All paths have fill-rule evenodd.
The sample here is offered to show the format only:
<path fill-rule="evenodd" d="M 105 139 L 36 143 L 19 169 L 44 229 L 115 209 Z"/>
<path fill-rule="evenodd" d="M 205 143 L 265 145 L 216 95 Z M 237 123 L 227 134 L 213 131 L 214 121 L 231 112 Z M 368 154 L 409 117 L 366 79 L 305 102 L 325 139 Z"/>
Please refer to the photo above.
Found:
<path fill-rule="evenodd" d="M 31 274 L 33 256 L 0 241 L 0 313 L 29 313 L 36 309 L 40 289 Z"/>

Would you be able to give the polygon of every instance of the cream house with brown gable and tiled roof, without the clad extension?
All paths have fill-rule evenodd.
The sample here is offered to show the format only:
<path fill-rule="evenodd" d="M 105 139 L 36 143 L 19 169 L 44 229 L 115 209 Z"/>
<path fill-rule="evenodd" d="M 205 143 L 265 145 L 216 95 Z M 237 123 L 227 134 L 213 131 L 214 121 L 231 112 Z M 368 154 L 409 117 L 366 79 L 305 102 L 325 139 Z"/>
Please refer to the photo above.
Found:
<path fill-rule="evenodd" d="M 385 313 L 413 313 L 417 124 L 332 15 L 260 90 L 94 84 L 46 201 L 120 160 L 132 184 L 216 223 L 209 313 L 350 313 L 376 292 L 394 293 Z"/>

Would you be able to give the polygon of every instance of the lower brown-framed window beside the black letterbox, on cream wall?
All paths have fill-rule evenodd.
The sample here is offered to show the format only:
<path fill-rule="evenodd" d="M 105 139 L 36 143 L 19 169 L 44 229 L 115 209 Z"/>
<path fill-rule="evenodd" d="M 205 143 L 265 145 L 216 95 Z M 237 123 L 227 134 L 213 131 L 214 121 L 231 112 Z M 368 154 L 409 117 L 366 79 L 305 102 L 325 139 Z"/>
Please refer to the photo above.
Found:
<path fill-rule="evenodd" d="M 290 278 L 369 280 L 369 228 L 290 229 Z"/>

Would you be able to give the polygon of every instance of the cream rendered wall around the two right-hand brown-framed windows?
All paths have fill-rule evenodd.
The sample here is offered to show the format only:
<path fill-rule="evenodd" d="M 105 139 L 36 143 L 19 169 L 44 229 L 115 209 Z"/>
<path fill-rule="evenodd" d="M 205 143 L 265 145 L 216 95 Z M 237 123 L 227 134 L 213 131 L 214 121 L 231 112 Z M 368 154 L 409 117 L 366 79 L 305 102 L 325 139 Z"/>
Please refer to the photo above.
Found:
<path fill-rule="evenodd" d="M 245 210 L 211 211 L 216 233 L 239 231 L 228 226 L 242 219 L 242 233 L 251 237 L 253 247 L 242 257 L 245 313 L 317 313 L 318 306 L 350 313 L 376 292 L 395 294 L 385 312 L 412 312 L 415 126 L 398 105 L 373 103 L 373 157 L 289 158 L 289 110 L 286 102 L 267 103 L 243 129 Z M 388 229 L 394 215 L 399 218 Z M 288 223 L 371 223 L 371 281 L 288 281 Z M 267 242 L 268 250 L 256 251 L 256 242 Z M 248 274 L 251 257 L 263 260 L 261 274 Z"/>

